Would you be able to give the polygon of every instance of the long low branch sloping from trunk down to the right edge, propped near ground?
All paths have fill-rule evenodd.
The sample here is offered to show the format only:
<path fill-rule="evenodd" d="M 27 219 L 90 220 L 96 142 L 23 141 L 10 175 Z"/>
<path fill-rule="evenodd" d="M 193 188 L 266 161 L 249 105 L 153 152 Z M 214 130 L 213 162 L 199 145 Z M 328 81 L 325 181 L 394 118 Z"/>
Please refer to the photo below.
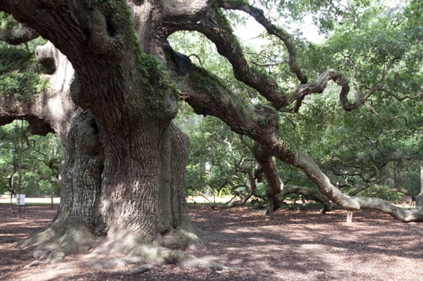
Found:
<path fill-rule="evenodd" d="M 171 67 L 172 65 L 168 65 Z M 171 71 L 172 73 L 172 71 Z M 173 73 L 176 73 L 173 72 Z M 318 187 L 319 192 L 333 203 L 348 210 L 373 208 L 384 211 L 403 221 L 423 221 L 419 210 L 403 210 L 381 199 L 356 197 L 343 194 L 331 184 L 312 158 L 295 153 L 278 137 L 274 112 L 263 108 L 251 108 L 224 87 L 216 77 L 194 67 L 185 77 L 178 78 L 183 85 L 183 97 L 196 113 L 214 115 L 227 123 L 234 132 L 247 135 L 258 142 L 264 153 L 302 169 Z M 339 78 L 337 79 L 337 81 Z"/>

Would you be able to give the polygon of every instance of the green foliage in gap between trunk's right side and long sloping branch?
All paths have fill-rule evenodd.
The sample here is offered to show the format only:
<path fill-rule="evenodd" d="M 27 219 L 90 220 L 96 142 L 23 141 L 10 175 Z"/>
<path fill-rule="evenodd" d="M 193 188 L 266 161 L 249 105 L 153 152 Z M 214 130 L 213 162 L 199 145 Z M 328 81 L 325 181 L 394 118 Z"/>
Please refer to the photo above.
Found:
<path fill-rule="evenodd" d="M 243 194 L 251 186 L 255 159 L 246 139 L 240 139 L 221 120 L 193 117 L 182 105 L 177 124 L 190 137 L 187 166 L 187 193 L 198 194 L 212 189 L 215 194 Z M 264 193 L 264 186 L 259 185 Z"/>

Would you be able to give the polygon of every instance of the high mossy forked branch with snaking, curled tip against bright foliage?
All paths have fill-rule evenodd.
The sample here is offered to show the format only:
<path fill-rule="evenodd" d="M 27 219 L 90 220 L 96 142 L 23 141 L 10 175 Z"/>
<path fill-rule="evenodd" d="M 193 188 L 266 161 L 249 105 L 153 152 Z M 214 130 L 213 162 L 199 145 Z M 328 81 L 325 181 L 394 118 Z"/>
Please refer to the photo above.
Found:
<path fill-rule="evenodd" d="M 307 77 L 302 74 L 296 63 L 295 47 L 290 40 L 290 36 L 275 25 L 272 25 L 269 20 L 264 17 L 261 10 L 249 4 L 240 3 L 239 1 L 229 1 L 228 3 L 228 1 L 219 0 L 218 5 L 223 8 L 237 9 L 249 13 L 266 28 L 269 34 L 275 35 L 281 39 L 288 49 L 290 71 L 297 75 L 301 85 L 290 94 L 286 94 L 282 92 L 278 83 L 273 80 L 272 77 L 252 68 L 252 65 L 250 65 L 250 62 L 247 61 L 247 58 L 245 58 L 243 54 L 243 49 L 238 39 L 233 35 L 233 31 L 228 21 L 219 13 L 219 10 L 215 10 L 213 7 L 210 7 L 209 13 L 204 14 L 202 18 L 198 18 L 195 23 L 189 25 L 187 25 L 186 22 L 184 22 L 183 25 L 181 23 L 178 29 L 197 30 L 214 42 L 219 54 L 227 58 L 229 63 L 231 63 L 235 78 L 253 89 L 256 89 L 259 94 L 264 96 L 274 105 L 276 110 L 286 107 L 294 101 L 298 101 L 297 107 L 299 107 L 302 99 L 308 94 L 323 92 L 329 80 L 333 80 L 342 87 L 340 96 L 346 110 L 353 110 L 362 104 L 359 102 L 353 105 L 349 103 L 347 99 L 348 93 L 350 92 L 348 80 L 336 70 L 327 70 L 320 75 L 317 81 L 307 83 Z M 175 25 L 175 23 L 173 23 L 173 25 Z M 175 27 L 173 26 L 173 28 Z"/>

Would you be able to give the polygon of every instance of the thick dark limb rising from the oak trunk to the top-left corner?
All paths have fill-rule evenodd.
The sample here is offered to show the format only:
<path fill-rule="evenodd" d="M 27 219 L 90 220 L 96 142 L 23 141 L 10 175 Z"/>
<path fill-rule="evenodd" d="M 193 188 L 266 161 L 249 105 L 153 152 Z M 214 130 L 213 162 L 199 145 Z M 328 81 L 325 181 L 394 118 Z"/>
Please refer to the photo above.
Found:
<path fill-rule="evenodd" d="M 128 7 L 111 1 L 0 1 L 0 10 L 34 28 L 65 54 L 87 85 L 106 76 L 121 62 L 122 44 L 132 36 L 125 11 Z M 113 10 L 113 12 L 111 11 Z M 116 77 L 118 79 L 118 77 Z M 106 82 L 103 83 L 106 85 Z M 104 87 L 103 85 L 103 87 Z M 106 91 L 102 91 L 105 92 Z"/>

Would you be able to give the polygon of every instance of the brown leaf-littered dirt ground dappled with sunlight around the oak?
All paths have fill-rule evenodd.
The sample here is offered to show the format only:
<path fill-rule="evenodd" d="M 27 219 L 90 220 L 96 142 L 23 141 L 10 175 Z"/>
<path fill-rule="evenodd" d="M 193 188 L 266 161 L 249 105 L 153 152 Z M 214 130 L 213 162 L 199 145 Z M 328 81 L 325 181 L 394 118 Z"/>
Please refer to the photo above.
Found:
<path fill-rule="evenodd" d="M 401 223 L 372 211 L 355 212 L 347 224 L 340 210 L 319 215 L 280 209 L 269 220 L 250 208 L 190 205 L 207 246 L 191 254 L 228 269 L 165 265 L 134 274 L 128 272 L 140 263 L 113 263 L 92 254 L 33 263 L 13 243 L 48 225 L 56 209 L 22 211 L 0 205 L 0 280 L 422 280 L 423 223 Z"/>

